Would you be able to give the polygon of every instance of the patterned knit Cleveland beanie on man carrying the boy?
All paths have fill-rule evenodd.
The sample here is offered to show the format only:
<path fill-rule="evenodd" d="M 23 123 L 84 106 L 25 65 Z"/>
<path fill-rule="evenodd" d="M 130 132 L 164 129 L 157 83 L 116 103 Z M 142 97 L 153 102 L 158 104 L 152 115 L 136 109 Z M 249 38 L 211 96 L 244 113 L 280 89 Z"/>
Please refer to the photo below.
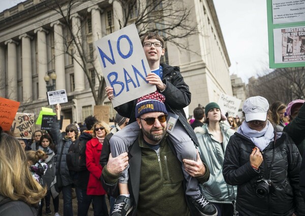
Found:
<path fill-rule="evenodd" d="M 136 118 L 139 118 L 145 113 L 161 112 L 167 114 L 164 104 L 165 97 L 159 92 L 150 93 L 138 98 L 136 105 Z"/>

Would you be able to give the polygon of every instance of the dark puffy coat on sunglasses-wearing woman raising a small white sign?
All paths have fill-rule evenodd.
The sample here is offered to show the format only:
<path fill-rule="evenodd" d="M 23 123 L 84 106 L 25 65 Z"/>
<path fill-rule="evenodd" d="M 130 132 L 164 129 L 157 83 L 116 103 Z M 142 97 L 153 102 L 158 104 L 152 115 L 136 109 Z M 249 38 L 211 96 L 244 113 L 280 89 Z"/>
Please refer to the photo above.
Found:
<path fill-rule="evenodd" d="M 56 175 L 59 175 L 61 179 L 60 186 L 68 186 L 73 184 L 73 179 L 70 175 L 70 171 L 67 166 L 66 156 L 71 144 L 73 144 L 71 139 L 63 138 L 63 134 L 59 129 L 59 120 L 56 117 L 53 118 L 53 123 L 51 126 L 51 134 L 55 145 L 57 146 L 57 157 L 56 157 Z M 58 181 L 57 181 L 58 183 Z"/>

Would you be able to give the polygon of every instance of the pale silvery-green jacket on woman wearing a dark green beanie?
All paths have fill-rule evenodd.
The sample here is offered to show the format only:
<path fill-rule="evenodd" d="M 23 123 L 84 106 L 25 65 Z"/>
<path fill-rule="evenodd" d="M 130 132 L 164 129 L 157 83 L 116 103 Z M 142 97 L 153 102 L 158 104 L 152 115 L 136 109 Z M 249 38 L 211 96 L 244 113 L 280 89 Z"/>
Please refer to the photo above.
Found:
<path fill-rule="evenodd" d="M 222 166 L 227 144 L 235 131 L 224 123 L 220 123 L 220 128 L 223 136 L 222 144 L 209 133 L 207 124 L 194 130 L 199 142 L 200 157 L 210 170 L 210 178 L 202 184 L 202 191 L 203 196 L 210 202 L 232 203 L 236 198 L 237 187 L 225 182 Z"/>

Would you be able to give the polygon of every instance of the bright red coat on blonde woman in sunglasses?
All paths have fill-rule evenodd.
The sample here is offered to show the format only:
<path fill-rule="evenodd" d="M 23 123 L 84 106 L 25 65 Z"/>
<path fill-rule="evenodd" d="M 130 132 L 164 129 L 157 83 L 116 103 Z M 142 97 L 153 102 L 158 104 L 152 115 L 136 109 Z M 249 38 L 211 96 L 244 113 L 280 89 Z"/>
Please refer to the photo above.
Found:
<path fill-rule="evenodd" d="M 103 144 L 98 138 L 89 140 L 86 144 L 86 165 L 90 172 L 87 186 L 87 195 L 105 195 L 106 192 L 100 182 L 102 175 L 102 166 L 100 165 L 100 156 Z"/>

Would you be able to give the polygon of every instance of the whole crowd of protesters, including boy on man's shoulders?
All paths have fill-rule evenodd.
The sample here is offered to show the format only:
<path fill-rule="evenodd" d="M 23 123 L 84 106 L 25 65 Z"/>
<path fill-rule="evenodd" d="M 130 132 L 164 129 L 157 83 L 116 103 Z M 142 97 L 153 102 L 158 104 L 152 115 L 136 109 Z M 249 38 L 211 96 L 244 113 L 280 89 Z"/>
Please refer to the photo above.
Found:
<path fill-rule="evenodd" d="M 142 44 L 157 92 L 116 107 L 112 128 L 88 116 L 61 132 L 55 116 L 28 142 L 0 127 L 0 215 L 70 216 L 74 193 L 79 216 L 90 205 L 112 216 L 305 215 L 305 101 L 254 96 L 236 116 L 210 101 L 188 122 L 191 92 L 177 67 L 160 64 L 163 39 L 148 33 Z"/>

